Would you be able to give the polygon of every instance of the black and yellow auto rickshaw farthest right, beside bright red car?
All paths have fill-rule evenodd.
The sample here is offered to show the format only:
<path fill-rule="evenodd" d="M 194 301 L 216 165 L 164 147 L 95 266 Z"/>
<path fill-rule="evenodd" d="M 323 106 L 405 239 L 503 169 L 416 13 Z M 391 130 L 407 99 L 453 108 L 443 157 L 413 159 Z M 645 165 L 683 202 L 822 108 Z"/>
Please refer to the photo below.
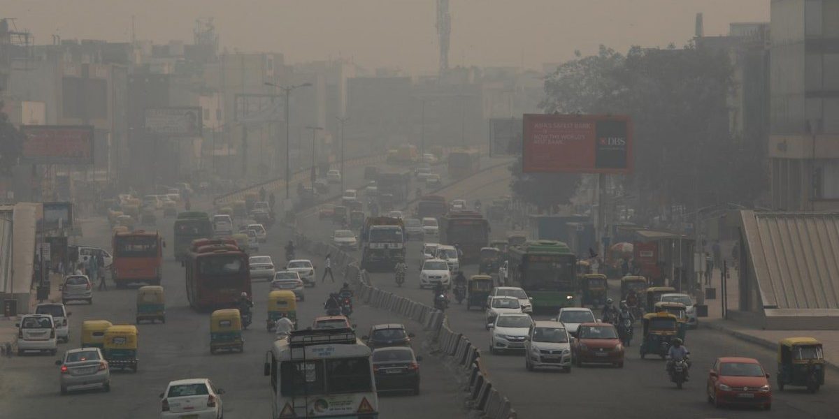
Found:
<path fill-rule="evenodd" d="M 825 357 L 821 342 L 813 338 L 787 338 L 778 342 L 778 389 L 802 385 L 815 393 L 825 385 Z"/>

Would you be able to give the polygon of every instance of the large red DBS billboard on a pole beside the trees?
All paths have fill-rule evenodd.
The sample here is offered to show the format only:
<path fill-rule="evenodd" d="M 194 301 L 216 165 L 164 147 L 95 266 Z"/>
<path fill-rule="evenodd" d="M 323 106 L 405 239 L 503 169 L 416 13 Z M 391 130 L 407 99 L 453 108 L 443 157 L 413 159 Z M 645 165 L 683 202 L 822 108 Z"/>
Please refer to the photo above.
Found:
<path fill-rule="evenodd" d="M 628 116 L 525 114 L 523 125 L 525 173 L 632 171 Z"/>

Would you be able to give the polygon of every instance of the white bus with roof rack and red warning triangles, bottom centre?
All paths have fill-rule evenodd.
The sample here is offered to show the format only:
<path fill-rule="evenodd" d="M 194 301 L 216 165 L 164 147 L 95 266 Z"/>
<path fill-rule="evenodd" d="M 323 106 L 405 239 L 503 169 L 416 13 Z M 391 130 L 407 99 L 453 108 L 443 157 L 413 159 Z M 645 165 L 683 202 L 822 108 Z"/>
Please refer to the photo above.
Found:
<path fill-rule="evenodd" d="M 306 329 L 274 341 L 270 377 L 274 418 L 378 418 L 372 350 L 351 328 Z"/>

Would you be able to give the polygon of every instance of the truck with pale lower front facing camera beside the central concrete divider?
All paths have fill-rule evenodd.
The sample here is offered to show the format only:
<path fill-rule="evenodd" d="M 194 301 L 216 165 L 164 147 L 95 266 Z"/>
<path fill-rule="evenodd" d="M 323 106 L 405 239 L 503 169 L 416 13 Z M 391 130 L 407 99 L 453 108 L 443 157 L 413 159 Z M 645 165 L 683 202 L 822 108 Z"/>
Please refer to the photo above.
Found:
<path fill-rule="evenodd" d="M 405 261 L 402 220 L 392 217 L 367 217 L 361 236 L 362 269 L 371 272 L 393 272 L 397 262 Z"/>

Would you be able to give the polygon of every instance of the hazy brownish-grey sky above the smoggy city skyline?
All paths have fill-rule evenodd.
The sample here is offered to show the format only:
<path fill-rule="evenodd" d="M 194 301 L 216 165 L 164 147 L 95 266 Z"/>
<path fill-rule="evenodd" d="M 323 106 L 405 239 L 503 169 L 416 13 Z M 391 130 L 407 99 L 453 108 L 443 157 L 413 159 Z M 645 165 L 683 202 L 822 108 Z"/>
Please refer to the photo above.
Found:
<path fill-rule="evenodd" d="M 221 45 L 277 51 L 289 62 L 353 57 L 369 68 L 437 68 L 436 0 L 0 0 L 37 44 L 62 39 L 191 42 L 195 18 L 212 17 Z M 450 0 L 451 65 L 541 63 L 630 45 L 684 44 L 696 13 L 706 35 L 728 23 L 769 20 L 769 0 Z"/>

